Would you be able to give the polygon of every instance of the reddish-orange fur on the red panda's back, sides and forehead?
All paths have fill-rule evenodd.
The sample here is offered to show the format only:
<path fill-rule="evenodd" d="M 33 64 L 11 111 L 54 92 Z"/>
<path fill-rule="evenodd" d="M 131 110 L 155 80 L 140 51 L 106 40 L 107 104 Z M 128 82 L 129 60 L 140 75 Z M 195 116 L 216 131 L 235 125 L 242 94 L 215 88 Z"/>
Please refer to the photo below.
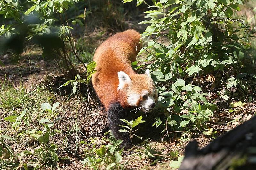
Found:
<path fill-rule="evenodd" d="M 139 53 L 140 34 L 135 30 L 126 30 L 109 37 L 95 52 L 93 60 L 96 62 L 97 72 L 92 75 L 93 87 L 101 103 L 108 110 L 113 102 L 120 102 L 127 108 L 127 93 L 129 91 L 140 93 L 147 89 L 149 93 L 155 90 L 153 81 L 144 74 L 136 74 L 131 62 L 136 61 Z M 117 72 L 125 72 L 132 80 L 131 88 L 117 90 L 119 80 Z"/>

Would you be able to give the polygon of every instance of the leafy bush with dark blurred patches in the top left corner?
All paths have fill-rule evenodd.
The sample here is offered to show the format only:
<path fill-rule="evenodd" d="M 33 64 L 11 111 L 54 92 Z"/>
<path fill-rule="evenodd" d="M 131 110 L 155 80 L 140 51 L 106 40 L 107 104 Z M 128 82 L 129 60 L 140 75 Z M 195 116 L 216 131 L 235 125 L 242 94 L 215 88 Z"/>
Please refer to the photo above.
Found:
<path fill-rule="evenodd" d="M 76 54 L 75 39 L 71 33 L 73 27 L 68 23 L 83 26 L 81 18 L 84 21 L 85 11 L 80 17 L 68 20 L 63 13 L 78 1 L 1 1 L 0 15 L 3 16 L 5 23 L 0 26 L 2 50 L 11 48 L 20 53 L 24 48 L 24 40 L 31 40 L 32 44 L 43 48 L 44 58 L 54 59 L 66 77 L 73 77 L 76 75 L 76 69 L 67 50 L 71 49 L 74 56 L 80 62 L 82 60 Z"/>

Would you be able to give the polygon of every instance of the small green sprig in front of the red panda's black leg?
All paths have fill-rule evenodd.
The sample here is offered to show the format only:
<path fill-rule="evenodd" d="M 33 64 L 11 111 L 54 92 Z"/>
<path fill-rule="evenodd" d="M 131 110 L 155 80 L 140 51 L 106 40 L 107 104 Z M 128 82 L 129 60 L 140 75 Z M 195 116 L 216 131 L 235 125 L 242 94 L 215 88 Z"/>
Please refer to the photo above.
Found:
<path fill-rule="evenodd" d="M 126 129 L 119 129 L 120 132 L 129 133 L 131 141 L 132 141 L 132 136 L 133 135 L 136 136 L 137 138 L 142 139 L 142 137 L 137 136 L 137 135 L 134 134 L 134 132 L 138 130 L 138 129 L 134 130 L 134 128 L 136 126 L 138 126 L 140 123 L 145 122 L 144 120 L 142 120 L 142 116 L 138 117 L 135 120 L 131 120 L 130 122 L 128 120 L 125 120 L 125 119 L 120 119 L 120 120 L 127 123 L 127 125 L 128 125 L 128 126 L 127 125 L 119 125 L 121 127 L 126 128 Z"/>

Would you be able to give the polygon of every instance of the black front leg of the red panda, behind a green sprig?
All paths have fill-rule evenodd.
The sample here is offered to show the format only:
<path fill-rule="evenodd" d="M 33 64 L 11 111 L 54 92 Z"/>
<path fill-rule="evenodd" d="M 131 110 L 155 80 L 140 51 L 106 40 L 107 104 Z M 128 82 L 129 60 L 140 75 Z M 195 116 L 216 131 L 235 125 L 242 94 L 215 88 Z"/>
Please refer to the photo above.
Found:
<path fill-rule="evenodd" d="M 118 125 L 126 125 L 120 119 L 128 118 L 127 110 L 124 109 L 119 102 L 112 103 L 109 109 L 107 110 L 108 113 L 108 122 L 109 128 L 116 137 L 116 139 L 121 139 L 123 142 L 120 144 L 120 148 L 125 150 L 130 149 L 132 147 L 132 141 L 130 139 L 129 133 L 119 132 L 119 129 L 123 129 Z"/>

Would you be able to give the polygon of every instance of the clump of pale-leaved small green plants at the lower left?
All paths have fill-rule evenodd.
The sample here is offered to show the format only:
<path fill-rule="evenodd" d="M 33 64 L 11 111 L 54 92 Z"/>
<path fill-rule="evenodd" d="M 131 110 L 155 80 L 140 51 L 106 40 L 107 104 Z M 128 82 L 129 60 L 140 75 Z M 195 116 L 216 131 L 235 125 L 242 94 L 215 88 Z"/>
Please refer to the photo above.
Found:
<path fill-rule="evenodd" d="M 7 138 L 10 140 L 16 140 L 18 144 L 20 144 L 20 137 L 28 137 L 31 138 L 32 140 L 36 140 L 40 144 L 40 148 L 35 149 L 34 153 L 30 151 L 23 151 L 23 155 L 37 155 L 40 159 L 42 159 L 44 162 L 51 162 L 54 163 L 55 166 L 57 166 L 57 162 L 59 161 L 59 158 L 56 154 L 56 151 L 58 149 L 58 146 L 54 143 L 50 143 L 50 138 L 53 138 L 55 135 L 55 130 L 54 130 L 54 123 L 58 120 L 59 118 L 54 119 L 54 117 L 57 115 L 57 107 L 59 106 L 59 102 L 56 102 L 51 105 L 49 103 L 42 103 L 41 104 L 41 109 L 44 111 L 47 111 L 49 113 L 49 118 L 41 118 L 39 120 L 40 125 L 44 127 L 44 129 L 41 131 L 37 127 L 34 129 L 30 128 L 30 120 L 26 116 L 27 109 L 23 110 L 19 116 L 13 116 L 10 115 L 8 117 L 5 117 L 5 121 L 9 121 L 12 123 L 12 128 L 15 131 L 15 139 L 12 137 L 9 137 L 7 135 L 0 136 L 3 138 Z M 24 126 L 26 128 L 24 128 Z M 21 130 L 19 130 L 21 128 Z M 18 133 L 17 133 L 18 132 Z"/>

